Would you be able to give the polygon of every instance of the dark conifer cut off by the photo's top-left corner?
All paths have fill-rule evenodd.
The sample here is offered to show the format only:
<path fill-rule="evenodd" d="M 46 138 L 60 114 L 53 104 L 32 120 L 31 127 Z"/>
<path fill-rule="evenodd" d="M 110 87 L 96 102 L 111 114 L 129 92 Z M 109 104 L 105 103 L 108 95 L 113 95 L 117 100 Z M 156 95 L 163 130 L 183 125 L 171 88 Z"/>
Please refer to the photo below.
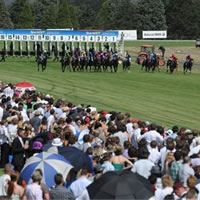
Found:
<path fill-rule="evenodd" d="M 0 18 L 0 28 L 13 28 L 13 23 L 4 0 L 0 0 Z"/>

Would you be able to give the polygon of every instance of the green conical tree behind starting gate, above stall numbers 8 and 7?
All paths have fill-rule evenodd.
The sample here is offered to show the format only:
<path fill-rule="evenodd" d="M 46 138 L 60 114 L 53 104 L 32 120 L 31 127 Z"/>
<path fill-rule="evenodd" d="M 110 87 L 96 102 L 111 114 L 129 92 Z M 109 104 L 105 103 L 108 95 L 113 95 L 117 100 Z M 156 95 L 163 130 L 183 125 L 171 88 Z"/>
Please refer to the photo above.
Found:
<path fill-rule="evenodd" d="M 71 10 L 70 10 L 71 12 Z M 60 0 L 57 16 L 57 28 L 72 28 L 67 0 Z"/>

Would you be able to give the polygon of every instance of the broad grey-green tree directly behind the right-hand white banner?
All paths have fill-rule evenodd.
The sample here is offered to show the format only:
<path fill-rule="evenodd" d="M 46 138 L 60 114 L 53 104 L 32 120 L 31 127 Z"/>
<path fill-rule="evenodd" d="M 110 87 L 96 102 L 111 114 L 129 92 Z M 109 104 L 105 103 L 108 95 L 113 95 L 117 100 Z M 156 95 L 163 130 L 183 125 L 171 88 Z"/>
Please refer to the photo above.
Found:
<path fill-rule="evenodd" d="M 136 7 L 138 35 L 142 30 L 166 30 L 164 4 L 161 0 L 140 0 Z"/>

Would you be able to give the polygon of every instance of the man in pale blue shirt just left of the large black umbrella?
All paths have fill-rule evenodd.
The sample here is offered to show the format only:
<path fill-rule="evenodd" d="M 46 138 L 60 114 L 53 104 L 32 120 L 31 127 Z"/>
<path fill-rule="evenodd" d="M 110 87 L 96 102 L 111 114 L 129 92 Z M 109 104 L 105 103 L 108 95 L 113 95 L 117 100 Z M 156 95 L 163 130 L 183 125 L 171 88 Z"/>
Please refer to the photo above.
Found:
<path fill-rule="evenodd" d="M 81 176 L 71 184 L 70 190 L 76 198 L 81 196 L 86 187 L 92 183 L 88 180 L 90 175 L 87 169 L 82 169 Z"/>

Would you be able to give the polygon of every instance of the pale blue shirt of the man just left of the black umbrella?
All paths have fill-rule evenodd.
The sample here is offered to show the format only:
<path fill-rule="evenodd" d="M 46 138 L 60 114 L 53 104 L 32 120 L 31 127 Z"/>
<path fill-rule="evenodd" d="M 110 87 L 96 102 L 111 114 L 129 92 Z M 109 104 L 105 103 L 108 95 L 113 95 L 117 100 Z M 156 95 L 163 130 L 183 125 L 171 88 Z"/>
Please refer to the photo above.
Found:
<path fill-rule="evenodd" d="M 86 187 L 90 185 L 91 183 L 92 182 L 89 181 L 86 177 L 80 177 L 71 184 L 70 189 L 72 193 L 74 194 L 74 196 L 77 198 L 83 193 Z"/>

